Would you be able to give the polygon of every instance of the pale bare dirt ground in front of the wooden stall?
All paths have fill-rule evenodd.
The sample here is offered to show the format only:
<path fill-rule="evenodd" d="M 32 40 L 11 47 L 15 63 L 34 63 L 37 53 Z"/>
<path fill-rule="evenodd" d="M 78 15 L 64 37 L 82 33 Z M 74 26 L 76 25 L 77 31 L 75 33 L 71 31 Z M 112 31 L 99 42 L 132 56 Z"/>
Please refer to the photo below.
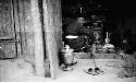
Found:
<path fill-rule="evenodd" d="M 119 78 L 124 68 L 121 59 L 96 59 L 97 67 L 103 73 L 91 75 L 85 71 L 94 67 L 92 59 L 77 59 L 71 71 L 62 71 L 55 80 L 34 75 L 33 66 L 22 59 L 0 60 L 0 82 L 136 82 L 136 77 Z"/>

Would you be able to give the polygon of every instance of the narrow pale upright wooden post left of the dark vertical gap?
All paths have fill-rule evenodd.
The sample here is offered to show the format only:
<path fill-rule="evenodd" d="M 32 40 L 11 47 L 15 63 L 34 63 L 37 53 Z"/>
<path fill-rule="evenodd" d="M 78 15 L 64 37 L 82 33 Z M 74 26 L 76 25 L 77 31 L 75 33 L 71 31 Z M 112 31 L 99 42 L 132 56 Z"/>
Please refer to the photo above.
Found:
<path fill-rule="evenodd" d="M 45 77 L 44 70 L 44 42 L 42 42 L 42 31 L 41 31 L 41 22 L 40 14 L 38 8 L 38 0 L 30 0 L 32 4 L 32 21 L 34 27 L 35 35 L 35 68 L 36 75 Z"/>

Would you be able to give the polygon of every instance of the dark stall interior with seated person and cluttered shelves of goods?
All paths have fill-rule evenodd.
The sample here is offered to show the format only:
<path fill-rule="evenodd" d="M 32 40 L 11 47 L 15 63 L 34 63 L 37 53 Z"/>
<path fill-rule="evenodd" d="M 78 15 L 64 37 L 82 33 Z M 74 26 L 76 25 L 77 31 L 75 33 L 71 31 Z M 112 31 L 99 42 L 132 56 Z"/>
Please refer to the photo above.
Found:
<path fill-rule="evenodd" d="M 121 1 L 122 2 L 122 1 Z M 134 52 L 132 30 L 124 27 L 125 8 L 112 7 L 115 1 L 107 0 L 62 0 L 62 38 L 75 52 L 90 51 L 94 45 L 97 52 L 115 52 L 124 49 Z M 81 22 L 82 21 L 82 22 Z M 78 36 L 69 37 L 66 36 Z M 135 34 L 134 34 L 135 35 Z M 135 43 L 133 43 L 135 44 Z M 106 49 L 109 48 L 109 49 Z"/>

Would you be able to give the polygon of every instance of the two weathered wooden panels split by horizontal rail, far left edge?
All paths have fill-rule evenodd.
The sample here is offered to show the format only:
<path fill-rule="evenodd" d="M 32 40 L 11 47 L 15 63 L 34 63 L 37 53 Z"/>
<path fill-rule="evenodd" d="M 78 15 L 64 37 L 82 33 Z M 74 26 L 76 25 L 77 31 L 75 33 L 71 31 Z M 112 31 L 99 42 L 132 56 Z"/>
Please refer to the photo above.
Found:
<path fill-rule="evenodd" d="M 15 37 L 12 10 L 12 0 L 0 0 L 0 38 Z M 4 56 L 0 54 L 1 58 L 16 57 L 15 43 L 0 40 L 0 47 L 4 50 Z"/>

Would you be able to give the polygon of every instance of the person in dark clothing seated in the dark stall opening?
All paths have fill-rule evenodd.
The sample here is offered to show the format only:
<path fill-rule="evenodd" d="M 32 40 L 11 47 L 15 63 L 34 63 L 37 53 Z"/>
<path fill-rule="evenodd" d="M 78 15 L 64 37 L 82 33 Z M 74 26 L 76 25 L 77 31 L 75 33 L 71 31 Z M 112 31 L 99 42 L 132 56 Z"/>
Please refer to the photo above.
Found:
<path fill-rule="evenodd" d="M 81 48 L 83 48 L 83 46 L 86 44 L 85 39 L 90 39 L 91 37 L 90 31 L 83 25 L 84 23 L 84 17 L 77 17 L 72 21 L 65 30 L 66 35 L 78 36 L 77 38 L 70 38 L 65 42 L 66 45 L 70 45 L 70 47 L 75 50 L 79 50 Z"/>

